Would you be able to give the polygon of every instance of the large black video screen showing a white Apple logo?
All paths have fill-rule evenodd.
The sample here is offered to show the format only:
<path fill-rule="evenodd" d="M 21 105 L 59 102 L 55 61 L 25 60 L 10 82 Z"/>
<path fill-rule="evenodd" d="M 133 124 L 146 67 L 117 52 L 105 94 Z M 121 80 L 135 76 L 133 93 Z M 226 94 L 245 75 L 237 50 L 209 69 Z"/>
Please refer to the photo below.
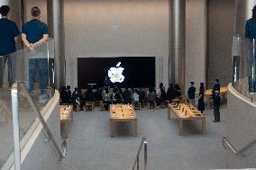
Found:
<path fill-rule="evenodd" d="M 114 73 L 108 76 L 109 70 L 112 74 L 113 70 L 120 69 L 123 70 L 122 75 Z M 113 83 L 113 80 L 117 82 Z M 113 87 L 115 84 L 121 87 L 155 86 L 155 58 L 78 58 L 78 87 L 87 88 L 87 84 L 98 87 Z"/>

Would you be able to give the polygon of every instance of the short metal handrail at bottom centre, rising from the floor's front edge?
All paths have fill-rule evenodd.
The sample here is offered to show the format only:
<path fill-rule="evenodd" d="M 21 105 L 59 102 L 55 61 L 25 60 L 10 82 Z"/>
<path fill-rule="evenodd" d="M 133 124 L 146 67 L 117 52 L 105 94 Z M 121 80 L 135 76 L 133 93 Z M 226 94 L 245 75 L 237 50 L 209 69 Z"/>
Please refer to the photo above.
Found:
<path fill-rule="evenodd" d="M 147 170 L 147 166 L 148 166 L 148 140 L 146 137 L 143 137 L 142 138 L 142 142 L 141 142 L 141 145 L 140 145 L 140 148 L 138 150 L 138 153 L 137 153 L 137 156 L 136 156 L 136 159 L 134 161 L 134 164 L 133 164 L 133 170 L 135 169 L 135 166 L 137 165 L 137 170 L 140 169 L 140 153 L 141 153 L 141 150 L 142 150 L 142 145 L 144 144 L 144 170 Z"/>

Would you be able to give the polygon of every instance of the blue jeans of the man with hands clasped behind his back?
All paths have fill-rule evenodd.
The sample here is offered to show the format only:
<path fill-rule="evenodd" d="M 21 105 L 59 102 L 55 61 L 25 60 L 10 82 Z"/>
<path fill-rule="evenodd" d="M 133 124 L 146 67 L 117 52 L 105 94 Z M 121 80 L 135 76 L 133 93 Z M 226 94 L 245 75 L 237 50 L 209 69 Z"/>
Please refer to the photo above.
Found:
<path fill-rule="evenodd" d="M 40 76 L 40 88 L 41 94 L 45 94 L 47 89 L 47 80 L 48 80 L 48 59 L 47 58 L 30 58 L 29 59 L 29 79 L 30 79 L 30 88 L 29 91 L 34 90 L 34 82 L 36 71 L 39 71 Z"/>

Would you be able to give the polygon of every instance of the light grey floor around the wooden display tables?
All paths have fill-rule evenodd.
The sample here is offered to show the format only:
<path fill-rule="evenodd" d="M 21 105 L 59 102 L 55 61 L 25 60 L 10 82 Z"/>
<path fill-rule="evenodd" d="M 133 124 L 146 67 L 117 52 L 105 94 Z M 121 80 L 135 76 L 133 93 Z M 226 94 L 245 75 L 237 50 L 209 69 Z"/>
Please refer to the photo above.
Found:
<path fill-rule="evenodd" d="M 178 119 L 167 109 L 137 111 L 138 137 L 128 123 L 117 124 L 114 138 L 109 133 L 109 112 L 74 112 L 63 170 L 132 169 L 143 136 L 148 138 L 148 169 L 206 170 L 225 168 L 222 137 L 225 133 L 226 105 L 221 107 L 221 122 L 213 122 L 213 110 L 206 110 L 206 136 L 201 121 L 184 123 L 178 135 Z M 141 158 L 142 161 L 142 158 Z M 142 162 L 141 162 L 142 168 Z"/>

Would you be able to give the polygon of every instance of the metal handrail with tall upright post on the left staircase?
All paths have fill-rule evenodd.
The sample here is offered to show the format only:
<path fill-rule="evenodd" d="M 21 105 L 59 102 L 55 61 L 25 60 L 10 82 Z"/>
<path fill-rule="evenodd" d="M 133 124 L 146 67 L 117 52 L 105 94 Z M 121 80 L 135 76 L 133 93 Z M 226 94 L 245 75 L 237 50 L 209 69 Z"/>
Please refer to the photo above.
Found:
<path fill-rule="evenodd" d="M 21 157 L 20 157 L 20 139 L 19 139 L 19 121 L 18 121 L 18 115 L 19 115 L 19 104 L 18 104 L 18 93 L 19 93 L 19 87 L 23 90 L 24 95 L 26 96 L 28 102 L 31 104 L 32 109 L 37 113 L 37 117 L 39 121 L 41 121 L 42 127 L 45 130 L 48 139 L 50 140 L 56 148 L 58 156 L 60 159 L 64 157 L 63 152 L 59 148 L 59 145 L 56 141 L 56 139 L 53 137 L 47 123 L 44 121 L 43 116 L 41 115 L 41 112 L 37 105 L 32 100 L 32 96 L 30 95 L 28 89 L 24 85 L 23 82 L 16 83 L 12 85 L 12 110 L 13 110 L 13 126 L 14 126 L 14 167 L 15 170 L 21 169 Z"/>

